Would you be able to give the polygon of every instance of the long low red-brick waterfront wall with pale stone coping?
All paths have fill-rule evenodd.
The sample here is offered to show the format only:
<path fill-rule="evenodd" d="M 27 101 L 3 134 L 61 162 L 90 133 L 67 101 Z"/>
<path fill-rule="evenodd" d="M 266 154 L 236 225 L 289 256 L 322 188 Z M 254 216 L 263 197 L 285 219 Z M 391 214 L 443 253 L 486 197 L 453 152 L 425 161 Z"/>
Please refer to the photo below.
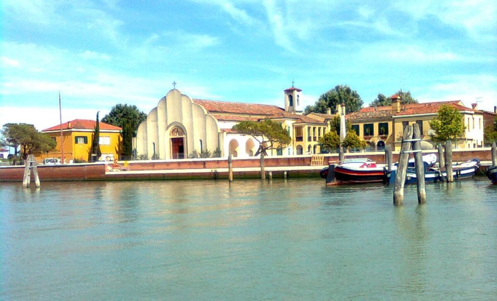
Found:
<path fill-rule="evenodd" d="M 436 151 L 423 151 L 424 154 L 435 153 Z M 345 158 L 364 158 L 367 157 L 377 163 L 385 163 L 385 154 L 383 152 L 354 152 L 345 153 Z M 490 148 L 475 150 L 452 150 L 453 161 L 466 161 L 478 158 L 481 161 L 492 160 Z M 311 155 L 288 156 L 288 157 L 266 157 L 264 160 L 266 167 L 280 166 L 310 166 Z M 399 159 L 399 153 L 393 153 L 393 161 Z M 338 154 L 325 154 L 324 165 L 338 161 Z M 122 163 L 122 162 L 121 162 Z M 108 163 L 110 165 L 112 163 Z M 244 158 L 233 159 L 233 168 L 259 167 L 260 159 Z M 147 161 L 129 161 L 129 167 L 133 171 L 140 170 L 168 170 L 168 169 L 218 169 L 228 168 L 227 159 L 184 159 L 184 160 L 147 160 Z M 141 175 L 106 175 L 105 164 L 83 163 L 68 165 L 39 165 L 38 173 L 41 181 L 88 181 L 88 180 L 119 180 L 119 179 L 166 179 L 166 178 L 210 178 L 210 173 L 199 174 L 194 170 L 187 173 L 178 174 L 141 174 Z M 0 182 L 21 182 L 24 174 L 24 166 L 2 166 L 0 167 Z M 292 171 L 290 176 L 318 176 L 319 172 L 315 169 Z M 225 173 L 219 173 L 220 177 L 226 177 Z M 258 175 L 256 171 L 240 171 L 236 174 L 239 177 L 254 177 Z M 275 174 L 275 177 L 281 175 Z"/>

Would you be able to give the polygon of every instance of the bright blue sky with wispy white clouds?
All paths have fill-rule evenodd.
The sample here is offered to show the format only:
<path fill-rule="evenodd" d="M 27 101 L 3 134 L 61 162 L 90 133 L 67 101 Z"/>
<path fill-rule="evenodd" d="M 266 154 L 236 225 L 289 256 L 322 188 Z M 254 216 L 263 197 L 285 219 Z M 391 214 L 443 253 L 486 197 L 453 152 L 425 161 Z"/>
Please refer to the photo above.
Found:
<path fill-rule="evenodd" d="M 2 0 L 0 126 L 191 98 L 284 107 L 348 85 L 497 105 L 495 0 Z"/>

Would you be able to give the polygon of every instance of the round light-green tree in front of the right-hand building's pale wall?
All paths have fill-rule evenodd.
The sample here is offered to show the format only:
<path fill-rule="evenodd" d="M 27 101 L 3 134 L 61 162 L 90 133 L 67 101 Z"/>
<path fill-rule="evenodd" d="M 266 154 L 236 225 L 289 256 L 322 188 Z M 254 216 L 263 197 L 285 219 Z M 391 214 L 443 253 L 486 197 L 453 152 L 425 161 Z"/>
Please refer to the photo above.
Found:
<path fill-rule="evenodd" d="M 433 142 L 455 141 L 464 134 L 463 115 L 453 106 L 440 106 L 437 116 L 428 122 L 435 134 L 430 135 Z"/>

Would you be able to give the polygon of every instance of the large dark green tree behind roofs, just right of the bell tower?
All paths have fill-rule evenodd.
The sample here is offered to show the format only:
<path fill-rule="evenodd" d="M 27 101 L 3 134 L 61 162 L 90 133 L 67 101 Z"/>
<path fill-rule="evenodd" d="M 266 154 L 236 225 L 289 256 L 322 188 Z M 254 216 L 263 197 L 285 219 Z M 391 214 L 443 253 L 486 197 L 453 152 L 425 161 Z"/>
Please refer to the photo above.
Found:
<path fill-rule="evenodd" d="M 352 90 L 347 85 L 337 85 L 328 92 L 322 94 L 314 105 L 305 108 L 305 114 L 326 113 L 327 108 L 334 109 L 337 104 L 345 104 L 346 113 L 359 111 L 363 101 L 357 91 Z"/>

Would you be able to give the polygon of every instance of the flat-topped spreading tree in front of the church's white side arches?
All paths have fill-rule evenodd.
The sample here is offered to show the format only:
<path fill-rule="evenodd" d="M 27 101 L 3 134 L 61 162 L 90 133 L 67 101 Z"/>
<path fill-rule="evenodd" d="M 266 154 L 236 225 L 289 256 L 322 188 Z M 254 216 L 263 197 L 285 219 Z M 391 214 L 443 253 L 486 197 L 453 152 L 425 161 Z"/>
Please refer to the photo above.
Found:
<path fill-rule="evenodd" d="M 233 126 L 233 129 L 242 135 L 250 135 L 259 143 L 259 149 L 255 153 L 267 155 L 267 150 L 284 148 L 292 141 L 288 132 L 281 124 L 265 119 L 260 122 L 242 121 Z"/>

